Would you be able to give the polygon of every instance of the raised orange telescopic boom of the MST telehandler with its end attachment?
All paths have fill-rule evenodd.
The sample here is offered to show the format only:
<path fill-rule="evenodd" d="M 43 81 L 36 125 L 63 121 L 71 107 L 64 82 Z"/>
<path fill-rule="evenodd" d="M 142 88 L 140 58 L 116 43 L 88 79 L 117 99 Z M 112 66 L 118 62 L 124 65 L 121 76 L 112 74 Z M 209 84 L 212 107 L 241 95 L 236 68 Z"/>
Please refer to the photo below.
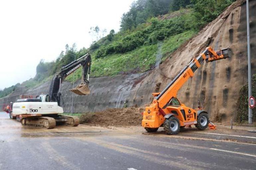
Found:
<path fill-rule="evenodd" d="M 194 72 L 201 66 L 203 61 L 212 62 L 225 58 L 228 58 L 228 48 L 214 51 L 211 47 L 207 47 L 198 57 L 193 58 L 161 93 L 153 94 L 156 96 L 153 102 L 157 102 L 159 108 L 165 107 L 172 97 L 177 96 L 178 90 L 187 80 L 193 77 Z"/>

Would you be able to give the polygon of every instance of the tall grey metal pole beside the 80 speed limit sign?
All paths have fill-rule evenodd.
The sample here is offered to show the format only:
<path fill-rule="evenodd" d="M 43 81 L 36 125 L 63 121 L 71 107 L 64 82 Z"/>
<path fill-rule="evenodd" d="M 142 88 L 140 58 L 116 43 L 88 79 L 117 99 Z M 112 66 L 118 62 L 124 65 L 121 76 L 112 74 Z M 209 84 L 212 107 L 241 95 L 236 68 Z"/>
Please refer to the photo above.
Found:
<path fill-rule="evenodd" d="M 250 96 L 252 95 L 249 0 L 246 0 L 246 20 L 247 20 L 247 54 L 248 54 L 248 100 L 249 100 Z M 249 107 L 249 104 L 248 104 L 248 123 L 252 124 L 252 108 Z"/>

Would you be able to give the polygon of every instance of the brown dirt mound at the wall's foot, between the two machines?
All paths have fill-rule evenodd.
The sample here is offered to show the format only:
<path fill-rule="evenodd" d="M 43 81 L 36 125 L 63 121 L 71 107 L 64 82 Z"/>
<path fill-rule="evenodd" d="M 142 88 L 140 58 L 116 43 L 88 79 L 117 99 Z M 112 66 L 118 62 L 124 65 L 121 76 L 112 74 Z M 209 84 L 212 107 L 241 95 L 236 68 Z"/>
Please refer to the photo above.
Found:
<path fill-rule="evenodd" d="M 94 126 L 139 126 L 141 125 L 141 112 L 145 108 L 128 107 L 121 109 L 107 109 L 102 112 L 85 113 L 80 117 L 80 123 Z"/>

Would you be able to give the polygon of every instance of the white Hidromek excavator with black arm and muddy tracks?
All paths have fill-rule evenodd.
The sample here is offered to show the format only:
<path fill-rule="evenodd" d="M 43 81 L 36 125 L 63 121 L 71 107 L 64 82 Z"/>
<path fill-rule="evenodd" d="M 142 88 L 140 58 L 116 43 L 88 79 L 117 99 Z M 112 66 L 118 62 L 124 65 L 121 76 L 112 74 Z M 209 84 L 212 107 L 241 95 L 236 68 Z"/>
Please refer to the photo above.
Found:
<path fill-rule="evenodd" d="M 74 70 L 82 66 L 81 84 L 70 91 L 78 95 L 90 94 L 89 74 L 91 66 L 90 54 L 63 66 L 54 75 L 48 94 L 39 95 L 37 98 L 18 99 L 13 103 L 10 118 L 16 118 L 22 125 L 41 126 L 52 129 L 56 124 L 79 125 L 79 118 L 76 116 L 64 116 L 61 105 L 61 83 Z"/>

